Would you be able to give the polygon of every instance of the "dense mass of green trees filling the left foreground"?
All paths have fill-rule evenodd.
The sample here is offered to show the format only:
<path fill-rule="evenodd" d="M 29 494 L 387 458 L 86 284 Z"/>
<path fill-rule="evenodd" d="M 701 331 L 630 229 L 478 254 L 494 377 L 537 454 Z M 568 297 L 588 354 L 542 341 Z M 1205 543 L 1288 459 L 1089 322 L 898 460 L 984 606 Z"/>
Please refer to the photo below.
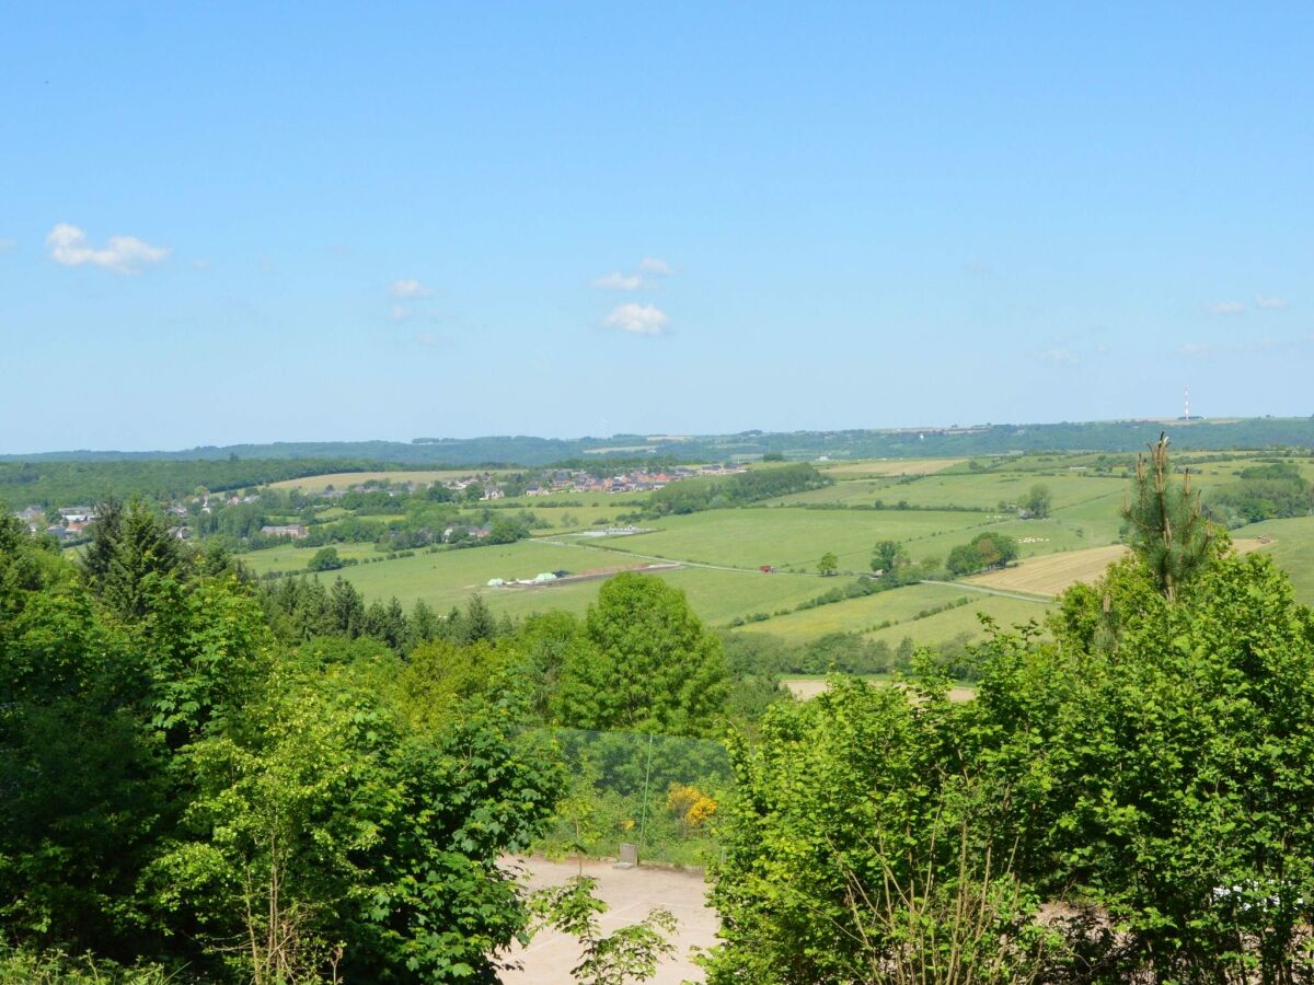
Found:
<path fill-rule="evenodd" d="M 97 598 L 125 544 L 150 557 L 142 516 L 85 579 L 0 521 L 0 936 L 28 948 L 0 972 L 81 981 L 34 956 L 62 947 L 259 982 L 491 981 L 527 921 L 497 860 L 562 783 L 509 657 L 280 649 L 246 583 L 189 563 L 143 562 L 133 605 Z"/>

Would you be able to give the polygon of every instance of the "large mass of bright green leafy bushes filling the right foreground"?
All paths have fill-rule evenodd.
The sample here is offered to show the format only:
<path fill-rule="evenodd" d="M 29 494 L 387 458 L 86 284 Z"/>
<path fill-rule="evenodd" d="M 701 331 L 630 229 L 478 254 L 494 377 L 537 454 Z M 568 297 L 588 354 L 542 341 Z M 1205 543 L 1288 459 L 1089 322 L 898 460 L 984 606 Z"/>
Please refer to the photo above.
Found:
<path fill-rule="evenodd" d="M 1314 972 L 1314 613 L 1286 578 L 1215 549 L 1169 600 L 1133 557 L 1050 633 L 996 633 L 975 701 L 837 682 L 732 747 L 712 982 Z"/>

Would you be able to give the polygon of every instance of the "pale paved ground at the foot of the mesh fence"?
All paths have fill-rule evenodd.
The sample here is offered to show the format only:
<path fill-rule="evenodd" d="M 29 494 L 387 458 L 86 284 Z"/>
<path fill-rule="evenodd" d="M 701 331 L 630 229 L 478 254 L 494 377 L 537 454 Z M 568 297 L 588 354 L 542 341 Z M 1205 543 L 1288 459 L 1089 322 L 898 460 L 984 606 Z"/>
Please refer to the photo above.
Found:
<path fill-rule="evenodd" d="M 528 869 L 528 881 L 535 889 L 560 885 L 579 875 L 578 862 L 558 863 L 541 858 L 514 862 Z M 611 906 L 600 919 L 603 931 L 636 923 L 653 906 L 665 906 L 675 914 L 679 922 L 675 930 L 678 959 L 664 963 L 652 982 L 679 985 L 703 980 L 702 971 L 689 960 L 691 947 L 716 943 L 716 911 L 704 904 L 702 873 L 646 867 L 618 869 L 610 862 L 585 862 L 583 875 L 598 880 L 598 894 Z M 572 938 L 541 931 L 527 948 L 514 948 L 510 960 L 523 967 L 502 972 L 506 985 L 572 985 L 570 969 L 579 960 L 579 948 Z"/>

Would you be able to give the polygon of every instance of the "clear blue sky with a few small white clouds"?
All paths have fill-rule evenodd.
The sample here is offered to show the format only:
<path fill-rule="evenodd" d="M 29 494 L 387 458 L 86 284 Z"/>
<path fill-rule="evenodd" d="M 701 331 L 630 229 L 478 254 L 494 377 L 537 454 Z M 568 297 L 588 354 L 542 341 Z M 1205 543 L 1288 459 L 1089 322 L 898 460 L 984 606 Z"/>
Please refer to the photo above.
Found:
<path fill-rule="evenodd" d="M 1310 4 L 11 4 L 0 450 L 1310 414 Z"/>

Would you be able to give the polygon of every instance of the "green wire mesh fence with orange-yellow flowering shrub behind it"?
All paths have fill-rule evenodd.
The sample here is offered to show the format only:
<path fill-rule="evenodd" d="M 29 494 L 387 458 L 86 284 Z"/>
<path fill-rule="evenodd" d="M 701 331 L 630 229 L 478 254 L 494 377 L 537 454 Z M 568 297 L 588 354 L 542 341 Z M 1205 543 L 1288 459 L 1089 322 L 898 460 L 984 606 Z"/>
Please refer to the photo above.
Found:
<path fill-rule="evenodd" d="M 712 739 L 555 729 L 570 789 L 549 833 L 548 855 L 706 865 L 715 858 L 716 810 L 732 785 L 725 746 Z"/>

